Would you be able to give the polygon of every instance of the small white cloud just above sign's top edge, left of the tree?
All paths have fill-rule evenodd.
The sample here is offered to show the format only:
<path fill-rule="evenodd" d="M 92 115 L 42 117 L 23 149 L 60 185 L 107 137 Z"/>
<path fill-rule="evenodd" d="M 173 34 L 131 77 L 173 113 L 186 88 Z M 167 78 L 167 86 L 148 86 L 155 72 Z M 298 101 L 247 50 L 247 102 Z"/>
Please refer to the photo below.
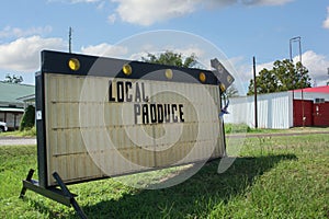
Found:
<path fill-rule="evenodd" d="M 128 49 L 123 46 L 115 46 L 110 44 L 99 44 L 95 46 L 82 47 L 81 51 L 87 55 L 106 56 L 106 57 L 122 57 L 127 54 Z"/>

